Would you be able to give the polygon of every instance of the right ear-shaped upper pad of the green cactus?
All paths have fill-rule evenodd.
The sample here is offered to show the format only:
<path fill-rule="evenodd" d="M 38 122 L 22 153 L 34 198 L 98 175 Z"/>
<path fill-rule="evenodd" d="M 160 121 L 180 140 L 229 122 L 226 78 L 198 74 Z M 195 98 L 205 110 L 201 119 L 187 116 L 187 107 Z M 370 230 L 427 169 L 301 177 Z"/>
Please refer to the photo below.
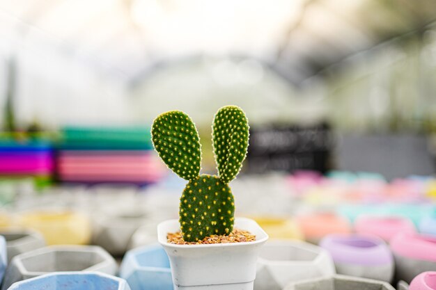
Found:
<path fill-rule="evenodd" d="M 212 140 L 219 178 L 231 182 L 247 155 L 249 125 L 238 106 L 224 106 L 215 115 Z"/>

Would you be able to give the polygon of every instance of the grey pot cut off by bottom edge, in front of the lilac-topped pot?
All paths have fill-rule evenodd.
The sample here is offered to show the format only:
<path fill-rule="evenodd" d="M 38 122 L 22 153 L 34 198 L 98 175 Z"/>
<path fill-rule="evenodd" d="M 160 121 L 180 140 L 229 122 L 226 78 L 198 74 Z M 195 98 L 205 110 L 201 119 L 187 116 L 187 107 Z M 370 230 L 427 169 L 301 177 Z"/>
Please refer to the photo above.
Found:
<path fill-rule="evenodd" d="M 378 280 L 345 275 L 334 275 L 302 282 L 292 282 L 283 290 L 395 290 L 391 284 Z"/>

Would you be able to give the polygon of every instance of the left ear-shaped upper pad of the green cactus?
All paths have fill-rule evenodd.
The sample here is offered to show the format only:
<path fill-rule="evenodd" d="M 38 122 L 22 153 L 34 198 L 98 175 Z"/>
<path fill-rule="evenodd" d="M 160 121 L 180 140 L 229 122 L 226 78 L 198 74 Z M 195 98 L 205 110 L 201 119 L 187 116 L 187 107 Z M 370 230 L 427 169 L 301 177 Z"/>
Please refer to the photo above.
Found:
<path fill-rule="evenodd" d="M 173 172 L 191 180 L 200 174 L 201 150 L 198 131 L 181 111 L 162 113 L 153 122 L 151 136 L 155 150 Z"/>

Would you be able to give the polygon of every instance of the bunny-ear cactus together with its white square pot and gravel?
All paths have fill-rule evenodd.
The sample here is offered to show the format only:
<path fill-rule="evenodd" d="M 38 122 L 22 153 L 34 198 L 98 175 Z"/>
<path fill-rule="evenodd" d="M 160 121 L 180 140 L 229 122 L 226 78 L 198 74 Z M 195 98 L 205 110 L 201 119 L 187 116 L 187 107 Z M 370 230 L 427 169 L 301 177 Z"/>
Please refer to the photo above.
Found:
<path fill-rule="evenodd" d="M 244 112 L 224 106 L 215 115 L 212 143 L 217 176 L 200 175 L 200 138 L 186 113 L 159 115 L 151 134 L 164 163 L 188 181 L 180 198 L 179 220 L 157 226 L 174 289 L 253 289 L 258 252 L 268 236 L 254 220 L 234 217 L 228 186 L 247 154 L 249 125 Z"/>

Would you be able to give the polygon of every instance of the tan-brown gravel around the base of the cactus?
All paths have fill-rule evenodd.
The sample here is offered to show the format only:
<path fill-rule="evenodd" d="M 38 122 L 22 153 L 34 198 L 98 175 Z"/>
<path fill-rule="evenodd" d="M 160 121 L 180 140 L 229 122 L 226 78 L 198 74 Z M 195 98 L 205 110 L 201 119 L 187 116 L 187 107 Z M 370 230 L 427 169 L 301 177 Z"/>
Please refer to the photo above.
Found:
<path fill-rule="evenodd" d="M 175 243 L 176 245 L 198 245 L 203 243 L 241 243 L 256 241 L 256 236 L 242 229 L 233 229 L 233 232 L 227 236 L 212 234 L 212 236 L 206 236 L 203 240 L 196 242 L 183 241 L 181 232 L 169 233 L 166 235 L 166 239 L 169 243 Z"/>

